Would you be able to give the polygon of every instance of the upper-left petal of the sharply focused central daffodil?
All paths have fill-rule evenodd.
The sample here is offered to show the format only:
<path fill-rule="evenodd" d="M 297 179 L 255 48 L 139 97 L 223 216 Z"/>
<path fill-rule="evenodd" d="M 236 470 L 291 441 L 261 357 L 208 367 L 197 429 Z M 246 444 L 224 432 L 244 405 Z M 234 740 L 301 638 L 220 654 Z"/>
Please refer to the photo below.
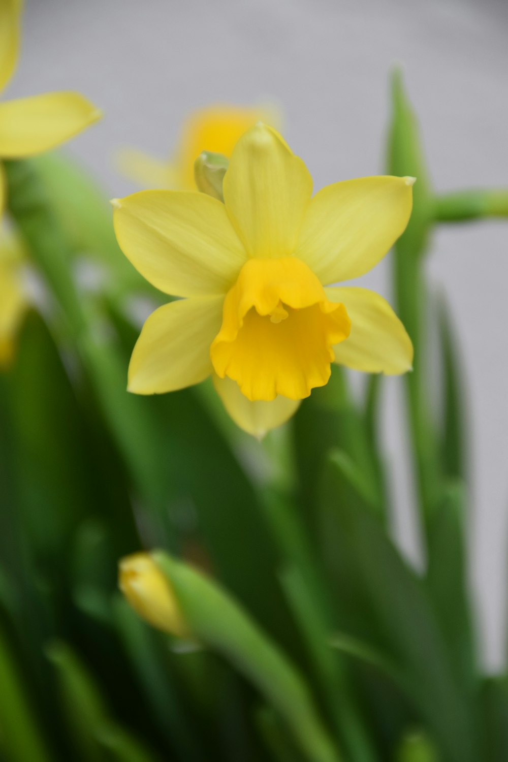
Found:
<path fill-rule="evenodd" d="M 165 293 L 225 293 L 247 259 L 224 204 L 205 194 L 141 191 L 113 207 L 123 253 Z"/>

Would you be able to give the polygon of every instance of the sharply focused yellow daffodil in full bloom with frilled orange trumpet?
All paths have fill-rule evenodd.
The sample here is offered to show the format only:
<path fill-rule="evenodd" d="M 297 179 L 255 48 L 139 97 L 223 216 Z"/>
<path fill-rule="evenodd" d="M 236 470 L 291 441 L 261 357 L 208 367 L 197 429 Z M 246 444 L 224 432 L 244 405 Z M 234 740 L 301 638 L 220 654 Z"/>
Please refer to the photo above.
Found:
<path fill-rule="evenodd" d="M 145 322 L 129 390 L 171 392 L 212 375 L 228 413 L 262 436 L 286 421 L 331 363 L 404 373 L 413 348 L 382 298 L 330 286 L 368 272 L 404 231 L 413 178 L 324 187 L 275 130 L 239 139 L 224 203 L 142 191 L 113 202 L 123 252 L 155 287 L 184 297 Z"/>

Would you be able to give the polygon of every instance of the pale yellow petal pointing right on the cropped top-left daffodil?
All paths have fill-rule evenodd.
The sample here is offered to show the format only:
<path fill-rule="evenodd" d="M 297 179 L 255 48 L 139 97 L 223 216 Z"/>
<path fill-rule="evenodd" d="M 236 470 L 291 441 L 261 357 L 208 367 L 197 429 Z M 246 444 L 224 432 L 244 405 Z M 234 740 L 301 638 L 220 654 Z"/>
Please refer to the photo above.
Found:
<path fill-rule="evenodd" d="M 101 117 L 79 93 L 56 92 L 0 104 L 0 156 L 24 158 L 59 146 Z"/>

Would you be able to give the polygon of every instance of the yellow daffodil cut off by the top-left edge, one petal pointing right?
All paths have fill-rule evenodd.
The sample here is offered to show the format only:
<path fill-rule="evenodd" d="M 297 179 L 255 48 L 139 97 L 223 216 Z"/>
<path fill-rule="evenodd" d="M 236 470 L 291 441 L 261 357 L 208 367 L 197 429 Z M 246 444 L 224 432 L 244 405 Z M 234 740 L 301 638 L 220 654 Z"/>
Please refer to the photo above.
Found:
<path fill-rule="evenodd" d="M 16 68 L 21 22 L 20 0 L 0 0 L 0 89 Z M 0 158 L 26 158 L 81 132 L 101 112 L 76 92 L 51 92 L 0 103 Z M 0 209 L 5 181 L 0 165 Z"/>

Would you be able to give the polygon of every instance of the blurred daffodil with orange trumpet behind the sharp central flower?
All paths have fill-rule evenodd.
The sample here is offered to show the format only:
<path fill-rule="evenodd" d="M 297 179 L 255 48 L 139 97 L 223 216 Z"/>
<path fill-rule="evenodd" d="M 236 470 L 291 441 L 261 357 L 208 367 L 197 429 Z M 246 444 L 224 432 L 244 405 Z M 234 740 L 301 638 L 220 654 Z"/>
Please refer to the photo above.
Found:
<path fill-rule="evenodd" d="M 144 151 L 124 149 L 118 157 L 120 171 L 142 187 L 195 191 L 194 162 L 202 151 L 228 158 L 238 139 L 259 120 L 273 123 L 270 107 L 241 108 L 215 105 L 196 110 L 184 122 L 174 158 L 162 161 Z"/>

